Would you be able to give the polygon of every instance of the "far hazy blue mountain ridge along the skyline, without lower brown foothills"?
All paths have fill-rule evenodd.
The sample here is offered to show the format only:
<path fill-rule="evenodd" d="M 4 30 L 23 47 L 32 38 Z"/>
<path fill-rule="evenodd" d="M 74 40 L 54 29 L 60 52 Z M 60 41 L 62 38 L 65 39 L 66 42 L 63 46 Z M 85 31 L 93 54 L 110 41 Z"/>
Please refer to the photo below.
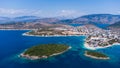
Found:
<path fill-rule="evenodd" d="M 91 14 L 77 17 L 74 19 L 59 19 L 58 17 L 54 18 L 42 18 L 37 16 L 21 16 L 15 18 L 9 17 L 0 17 L 0 24 L 3 23 L 15 23 L 15 22 L 26 22 L 26 23 L 55 23 L 55 24 L 114 24 L 115 22 L 120 21 L 120 15 L 112 14 Z"/>

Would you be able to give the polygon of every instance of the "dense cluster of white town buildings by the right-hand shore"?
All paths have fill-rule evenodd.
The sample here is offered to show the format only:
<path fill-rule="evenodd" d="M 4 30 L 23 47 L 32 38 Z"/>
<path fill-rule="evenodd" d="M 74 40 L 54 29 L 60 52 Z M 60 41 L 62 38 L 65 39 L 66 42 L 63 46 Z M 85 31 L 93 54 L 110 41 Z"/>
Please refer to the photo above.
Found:
<path fill-rule="evenodd" d="M 120 43 L 120 31 L 104 30 L 100 28 L 88 27 L 86 43 L 90 47 L 104 47 Z"/>

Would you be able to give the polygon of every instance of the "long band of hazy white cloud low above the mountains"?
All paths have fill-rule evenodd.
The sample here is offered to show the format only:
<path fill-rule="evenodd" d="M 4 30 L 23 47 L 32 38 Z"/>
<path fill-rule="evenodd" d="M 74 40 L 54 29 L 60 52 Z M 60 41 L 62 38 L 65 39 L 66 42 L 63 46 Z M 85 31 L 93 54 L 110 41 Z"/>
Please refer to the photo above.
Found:
<path fill-rule="evenodd" d="M 77 17 L 84 13 L 76 10 L 60 10 L 60 11 L 41 11 L 40 9 L 5 9 L 0 8 L 0 16 L 17 17 L 17 16 L 40 16 L 40 17 Z"/>

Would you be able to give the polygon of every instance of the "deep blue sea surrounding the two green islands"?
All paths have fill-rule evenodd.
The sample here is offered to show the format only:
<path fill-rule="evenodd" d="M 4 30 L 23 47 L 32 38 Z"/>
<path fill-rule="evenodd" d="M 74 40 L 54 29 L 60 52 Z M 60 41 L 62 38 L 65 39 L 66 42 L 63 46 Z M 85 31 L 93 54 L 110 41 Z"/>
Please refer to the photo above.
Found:
<path fill-rule="evenodd" d="M 84 56 L 84 36 L 30 37 L 26 31 L 0 31 L 0 68 L 120 68 L 120 46 L 97 51 L 110 56 L 110 60 L 95 60 Z M 18 57 L 25 49 L 47 43 L 72 46 L 66 53 L 48 59 L 31 61 Z"/>

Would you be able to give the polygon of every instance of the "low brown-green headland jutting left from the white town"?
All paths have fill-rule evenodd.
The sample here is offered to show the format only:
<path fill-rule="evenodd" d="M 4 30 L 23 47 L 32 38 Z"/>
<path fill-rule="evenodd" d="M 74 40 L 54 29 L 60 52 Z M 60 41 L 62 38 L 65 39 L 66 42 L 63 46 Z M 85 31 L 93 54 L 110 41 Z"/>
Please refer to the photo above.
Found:
<path fill-rule="evenodd" d="M 40 28 L 37 30 L 31 30 L 29 32 L 24 33 L 23 35 L 27 36 L 77 36 L 77 35 L 84 35 L 85 33 L 76 31 L 75 27 L 71 28 L 62 28 L 62 27 L 55 27 L 55 28 Z"/>

